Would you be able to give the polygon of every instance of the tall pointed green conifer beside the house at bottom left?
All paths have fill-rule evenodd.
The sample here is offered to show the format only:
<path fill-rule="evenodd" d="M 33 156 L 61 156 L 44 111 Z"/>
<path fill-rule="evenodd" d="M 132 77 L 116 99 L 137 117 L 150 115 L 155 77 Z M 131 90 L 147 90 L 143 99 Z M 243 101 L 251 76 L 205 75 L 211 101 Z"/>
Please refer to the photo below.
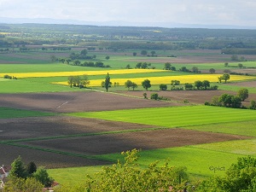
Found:
<path fill-rule="evenodd" d="M 14 160 L 14 162 L 11 164 L 11 167 L 12 168 L 9 173 L 10 177 L 21 177 L 21 178 L 27 177 L 26 168 L 20 156 Z"/>

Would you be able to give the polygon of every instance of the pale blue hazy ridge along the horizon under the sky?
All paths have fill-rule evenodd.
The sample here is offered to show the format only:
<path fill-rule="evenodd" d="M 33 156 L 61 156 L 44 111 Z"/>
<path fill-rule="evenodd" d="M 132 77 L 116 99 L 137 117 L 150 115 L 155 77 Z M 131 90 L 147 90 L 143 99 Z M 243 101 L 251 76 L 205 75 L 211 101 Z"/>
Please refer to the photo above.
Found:
<path fill-rule="evenodd" d="M 84 20 L 56 20 L 50 18 L 8 18 L 0 17 L 0 24 L 69 24 L 69 25 L 92 25 L 92 26 L 158 26 L 166 28 L 209 28 L 209 29 L 256 29 L 256 26 L 229 26 L 229 25 L 201 25 L 182 24 L 171 22 L 126 22 L 126 21 L 84 21 Z"/>

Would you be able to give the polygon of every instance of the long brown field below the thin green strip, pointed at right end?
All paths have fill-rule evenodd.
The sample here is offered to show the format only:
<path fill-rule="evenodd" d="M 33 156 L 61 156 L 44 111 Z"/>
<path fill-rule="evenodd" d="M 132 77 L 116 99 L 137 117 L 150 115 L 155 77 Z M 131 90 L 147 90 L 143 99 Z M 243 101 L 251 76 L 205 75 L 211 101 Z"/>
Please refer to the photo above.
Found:
<path fill-rule="evenodd" d="M 24 144 L 41 148 L 59 149 L 76 154 L 110 154 L 142 148 L 172 148 L 200 143 L 224 142 L 248 137 L 183 129 L 138 131 L 102 136 L 75 137 Z"/>

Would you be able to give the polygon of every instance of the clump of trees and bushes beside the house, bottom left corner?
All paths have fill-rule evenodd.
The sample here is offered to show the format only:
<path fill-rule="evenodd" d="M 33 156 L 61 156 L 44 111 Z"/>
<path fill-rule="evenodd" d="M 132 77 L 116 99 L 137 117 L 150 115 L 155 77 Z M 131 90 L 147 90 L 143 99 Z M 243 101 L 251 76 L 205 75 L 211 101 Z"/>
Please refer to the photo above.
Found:
<path fill-rule="evenodd" d="M 20 156 L 11 164 L 7 178 L 3 191 L 42 191 L 54 182 L 44 167 L 38 168 L 33 161 L 25 166 Z"/>

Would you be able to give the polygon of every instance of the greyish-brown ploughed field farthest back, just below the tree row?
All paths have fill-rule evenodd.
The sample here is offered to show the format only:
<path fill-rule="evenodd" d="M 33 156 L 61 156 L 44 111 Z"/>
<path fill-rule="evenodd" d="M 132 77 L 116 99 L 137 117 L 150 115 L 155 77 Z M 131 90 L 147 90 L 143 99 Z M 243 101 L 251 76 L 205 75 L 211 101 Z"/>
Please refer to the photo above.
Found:
<path fill-rule="evenodd" d="M 0 94 L 0 106 L 55 113 L 106 111 L 129 108 L 158 108 L 181 105 L 106 92 L 55 92 Z"/>

